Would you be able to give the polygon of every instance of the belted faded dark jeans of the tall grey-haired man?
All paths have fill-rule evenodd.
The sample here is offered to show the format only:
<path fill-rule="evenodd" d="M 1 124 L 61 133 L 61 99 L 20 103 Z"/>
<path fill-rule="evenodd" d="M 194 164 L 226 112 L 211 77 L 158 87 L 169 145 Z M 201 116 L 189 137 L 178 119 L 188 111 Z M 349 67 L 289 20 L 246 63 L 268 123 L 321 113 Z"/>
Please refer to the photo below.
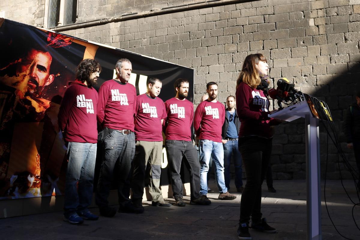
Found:
<path fill-rule="evenodd" d="M 103 148 L 104 156 L 96 190 L 96 205 L 99 208 L 108 206 L 111 184 L 115 179 L 119 205 L 123 207 L 130 203 L 130 177 L 131 163 L 135 154 L 135 133 L 123 135 L 121 132 L 110 129 L 105 137 Z"/>

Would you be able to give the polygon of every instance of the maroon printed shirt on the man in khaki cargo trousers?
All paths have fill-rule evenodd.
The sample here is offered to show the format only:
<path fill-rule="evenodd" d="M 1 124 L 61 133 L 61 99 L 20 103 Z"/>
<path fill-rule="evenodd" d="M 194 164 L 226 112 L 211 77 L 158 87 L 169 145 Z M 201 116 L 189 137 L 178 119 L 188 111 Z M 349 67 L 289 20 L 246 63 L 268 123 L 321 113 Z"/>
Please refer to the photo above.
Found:
<path fill-rule="evenodd" d="M 144 93 L 136 97 L 134 108 L 135 140 L 163 141 L 161 119 L 166 118 L 164 102 Z"/>

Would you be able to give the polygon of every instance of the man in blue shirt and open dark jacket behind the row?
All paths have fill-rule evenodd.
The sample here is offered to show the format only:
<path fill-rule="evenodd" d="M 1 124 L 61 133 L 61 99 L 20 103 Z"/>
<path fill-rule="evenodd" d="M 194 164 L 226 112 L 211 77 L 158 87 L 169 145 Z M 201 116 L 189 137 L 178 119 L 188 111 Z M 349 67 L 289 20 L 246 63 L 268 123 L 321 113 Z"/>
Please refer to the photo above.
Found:
<path fill-rule="evenodd" d="M 240 121 L 235 111 L 235 97 L 228 96 L 226 98 L 226 108 L 225 110 L 225 121 L 222 125 L 222 144 L 224 146 L 224 177 L 225 177 L 225 186 L 230 189 L 230 162 L 231 156 L 233 155 L 234 166 L 235 166 L 235 186 L 236 190 L 239 193 L 242 193 L 244 190 L 242 174 L 243 169 L 241 167 L 242 158 L 238 148 L 238 137 L 239 137 L 239 128 Z"/>

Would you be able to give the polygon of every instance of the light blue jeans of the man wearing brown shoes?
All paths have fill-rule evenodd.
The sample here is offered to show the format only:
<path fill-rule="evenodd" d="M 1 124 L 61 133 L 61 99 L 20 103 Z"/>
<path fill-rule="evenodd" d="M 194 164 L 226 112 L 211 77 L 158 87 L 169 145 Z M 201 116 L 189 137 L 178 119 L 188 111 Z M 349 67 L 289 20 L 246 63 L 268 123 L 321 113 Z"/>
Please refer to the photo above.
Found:
<path fill-rule="evenodd" d="M 199 140 L 200 152 L 200 194 L 207 194 L 207 173 L 209 171 L 210 157 L 213 160 L 213 167 L 215 167 L 215 178 L 217 188 L 220 193 L 226 193 L 228 189 L 225 186 L 224 179 L 224 148 L 221 142 L 214 142 L 211 140 Z"/>

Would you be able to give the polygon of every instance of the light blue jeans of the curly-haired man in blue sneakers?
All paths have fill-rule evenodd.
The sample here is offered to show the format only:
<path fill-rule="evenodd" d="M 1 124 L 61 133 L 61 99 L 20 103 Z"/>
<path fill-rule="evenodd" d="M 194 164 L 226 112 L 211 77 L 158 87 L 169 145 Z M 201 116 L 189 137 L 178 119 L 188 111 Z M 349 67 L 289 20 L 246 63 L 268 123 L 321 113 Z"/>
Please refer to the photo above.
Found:
<path fill-rule="evenodd" d="M 87 209 L 93 198 L 96 143 L 68 142 L 64 215 Z M 77 182 L 79 182 L 77 187 Z"/>

